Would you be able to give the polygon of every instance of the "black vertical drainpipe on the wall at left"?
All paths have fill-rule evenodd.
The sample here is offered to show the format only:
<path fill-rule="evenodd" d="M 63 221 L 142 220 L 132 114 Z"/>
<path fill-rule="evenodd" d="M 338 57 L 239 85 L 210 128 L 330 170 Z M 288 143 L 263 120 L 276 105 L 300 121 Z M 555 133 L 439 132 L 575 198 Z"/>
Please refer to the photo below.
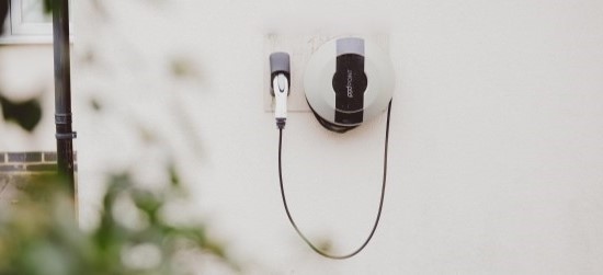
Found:
<path fill-rule="evenodd" d="M 55 124 L 57 127 L 57 169 L 73 196 L 73 138 L 71 128 L 71 65 L 69 57 L 69 0 L 53 1 L 53 39 L 55 50 Z"/>

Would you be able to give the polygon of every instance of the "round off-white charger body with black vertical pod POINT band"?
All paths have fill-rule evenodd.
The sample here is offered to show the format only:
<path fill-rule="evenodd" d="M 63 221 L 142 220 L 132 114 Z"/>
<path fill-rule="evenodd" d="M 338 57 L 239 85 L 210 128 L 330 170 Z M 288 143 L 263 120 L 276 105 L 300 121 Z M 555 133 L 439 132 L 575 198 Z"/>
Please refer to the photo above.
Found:
<path fill-rule="evenodd" d="M 346 131 L 387 108 L 394 93 L 391 62 L 369 41 L 330 41 L 307 64 L 304 92 L 322 126 Z"/>

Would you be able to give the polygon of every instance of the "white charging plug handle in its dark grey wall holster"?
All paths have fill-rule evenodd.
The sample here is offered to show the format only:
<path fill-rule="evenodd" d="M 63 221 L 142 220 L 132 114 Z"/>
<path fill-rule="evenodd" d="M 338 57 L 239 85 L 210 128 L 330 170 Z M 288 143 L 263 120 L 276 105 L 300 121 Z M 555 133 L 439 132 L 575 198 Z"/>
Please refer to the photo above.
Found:
<path fill-rule="evenodd" d="M 287 119 L 287 96 L 291 87 L 291 66 L 287 53 L 270 55 L 272 95 L 275 98 L 274 118 L 276 127 L 283 129 Z"/>

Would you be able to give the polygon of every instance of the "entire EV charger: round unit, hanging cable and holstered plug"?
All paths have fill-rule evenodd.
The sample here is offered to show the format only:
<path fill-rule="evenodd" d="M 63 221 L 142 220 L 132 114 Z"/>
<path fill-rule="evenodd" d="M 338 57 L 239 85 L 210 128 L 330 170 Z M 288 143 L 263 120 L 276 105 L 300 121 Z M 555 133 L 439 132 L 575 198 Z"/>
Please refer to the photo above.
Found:
<path fill-rule="evenodd" d="M 340 37 L 323 44 L 310 57 L 304 70 L 306 101 L 326 129 L 346 133 L 387 111 L 383 162 L 383 183 L 377 216 L 365 241 L 354 251 L 333 255 L 317 248 L 295 224 L 285 195 L 282 169 L 283 129 L 287 118 L 291 88 L 291 59 L 287 53 L 270 56 L 271 93 L 275 98 L 274 116 L 278 128 L 278 180 L 287 218 L 299 237 L 318 254 L 335 260 L 360 253 L 373 238 L 382 215 L 387 182 L 387 147 L 394 94 L 394 69 L 386 51 L 363 37 Z M 293 91 L 300 92 L 300 91 Z"/>

